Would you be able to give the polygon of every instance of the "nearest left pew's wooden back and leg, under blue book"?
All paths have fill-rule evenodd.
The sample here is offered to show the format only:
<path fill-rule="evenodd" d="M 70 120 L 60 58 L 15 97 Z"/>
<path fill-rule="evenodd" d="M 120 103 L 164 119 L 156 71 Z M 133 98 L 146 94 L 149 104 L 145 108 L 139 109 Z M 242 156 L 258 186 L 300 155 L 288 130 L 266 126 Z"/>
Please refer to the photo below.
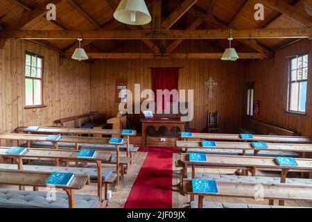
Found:
<path fill-rule="evenodd" d="M 23 170 L 2 170 L 0 169 L 0 185 L 17 185 L 26 187 L 47 187 L 45 181 L 51 173 L 23 171 Z M 83 189 L 89 180 L 89 176 L 75 175 L 68 187 L 55 186 L 57 189 L 66 191 L 69 197 L 69 208 L 75 207 L 74 190 Z"/>

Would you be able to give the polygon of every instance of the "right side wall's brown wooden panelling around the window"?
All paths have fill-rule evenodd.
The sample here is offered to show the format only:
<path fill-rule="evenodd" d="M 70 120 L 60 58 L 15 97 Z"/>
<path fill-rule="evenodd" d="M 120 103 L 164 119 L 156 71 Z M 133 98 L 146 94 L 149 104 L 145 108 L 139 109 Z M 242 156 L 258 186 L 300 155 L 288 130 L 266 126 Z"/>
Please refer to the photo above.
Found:
<path fill-rule="evenodd" d="M 286 112 L 288 99 L 288 57 L 309 53 L 309 87 L 306 115 Z M 245 65 L 245 83 L 255 81 L 255 100 L 261 101 L 255 119 L 312 137 L 312 41 L 302 40 L 275 53 L 275 58 Z M 244 108 L 245 114 L 245 108 Z"/>

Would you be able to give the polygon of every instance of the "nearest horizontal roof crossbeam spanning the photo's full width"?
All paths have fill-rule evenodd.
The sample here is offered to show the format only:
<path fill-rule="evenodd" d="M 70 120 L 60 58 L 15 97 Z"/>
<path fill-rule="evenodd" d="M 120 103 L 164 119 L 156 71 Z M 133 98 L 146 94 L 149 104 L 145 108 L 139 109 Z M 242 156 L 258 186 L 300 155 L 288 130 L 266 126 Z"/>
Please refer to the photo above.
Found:
<path fill-rule="evenodd" d="M 150 31 L 80 31 L 84 40 L 209 40 L 227 39 L 229 28 L 209 30 L 163 30 L 161 35 Z M 32 40 L 76 40 L 78 31 L 0 31 L 0 38 Z M 312 28 L 248 28 L 233 29 L 234 39 L 310 38 Z"/>

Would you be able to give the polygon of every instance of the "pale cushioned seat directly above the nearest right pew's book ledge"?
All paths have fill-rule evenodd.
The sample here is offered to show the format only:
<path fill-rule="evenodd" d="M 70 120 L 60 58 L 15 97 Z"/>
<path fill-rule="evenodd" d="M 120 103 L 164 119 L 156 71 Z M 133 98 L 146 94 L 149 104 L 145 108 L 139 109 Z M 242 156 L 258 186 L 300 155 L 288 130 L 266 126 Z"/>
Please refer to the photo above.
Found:
<path fill-rule="evenodd" d="M 191 173 L 187 173 L 187 177 L 191 178 Z M 202 180 L 227 180 L 227 181 L 241 181 L 241 182 L 259 182 L 266 184 L 279 184 L 281 178 L 263 177 L 263 176 L 234 176 L 234 175 L 218 175 L 210 173 L 195 173 L 196 179 Z M 312 186 L 311 179 L 302 178 L 286 178 L 287 184 L 293 185 L 309 185 Z"/>

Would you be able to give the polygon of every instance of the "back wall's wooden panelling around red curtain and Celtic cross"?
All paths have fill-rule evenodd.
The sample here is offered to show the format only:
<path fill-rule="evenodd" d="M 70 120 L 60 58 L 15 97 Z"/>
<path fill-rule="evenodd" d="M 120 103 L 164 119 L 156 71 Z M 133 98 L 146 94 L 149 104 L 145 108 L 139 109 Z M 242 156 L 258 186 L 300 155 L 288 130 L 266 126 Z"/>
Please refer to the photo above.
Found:
<path fill-rule="evenodd" d="M 182 47 L 182 48 L 180 48 Z M 207 42 L 184 41 L 176 50 L 215 51 Z M 144 51 L 144 46 L 130 41 L 116 51 Z M 112 118 L 118 112 L 114 101 L 114 81 L 117 78 L 128 80 L 128 88 L 134 91 L 135 83 L 141 90 L 151 88 L 149 67 L 183 67 L 180 69 L 179 88 L 194 89 L 194 119 L 191 128 L 204 130 L 207 111 L 219 111 L 220 123 L 224 132 L 235 133 L 241 127 L 243 103 L 244 67 L 241 62 L 220 60 L 96 60 L 91 67 L 92 110 L 97 110 L 101 120 Z M 205 81 L 213 77 L 218 82 L 214 99 L 209 101 Z M 143 101 L 143 99 L 142 99 Z M 139 122 L 139 115 L 130 117 L 132 123 Z"/>

